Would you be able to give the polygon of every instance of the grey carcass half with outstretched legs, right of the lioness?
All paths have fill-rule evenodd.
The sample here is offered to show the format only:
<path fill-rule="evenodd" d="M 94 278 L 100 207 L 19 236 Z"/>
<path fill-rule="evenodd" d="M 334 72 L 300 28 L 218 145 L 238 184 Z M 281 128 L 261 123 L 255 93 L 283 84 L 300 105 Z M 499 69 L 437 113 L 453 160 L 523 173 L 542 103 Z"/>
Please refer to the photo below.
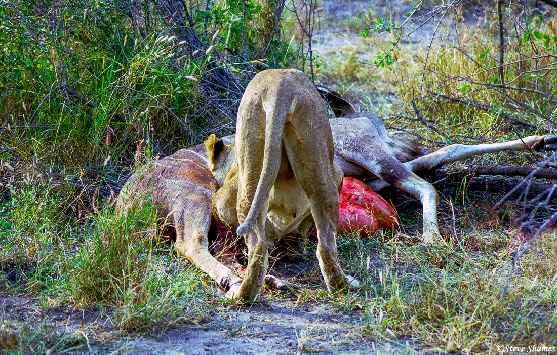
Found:
<path fill-rule="evenodd" d="M 436 189 L 416 172 L 441 167 L 473 155 L 514 150 L 555 150 L 557 136 L 530 135 L 510 142 L 492 144 L 451 144 L 431 154 L 424 154 L 408 134 L 389 134 L 379 116 L 356 113 L 354 107 L 336 91 L 317 87 L 329 102 L 336 118 L 329 120 L 335 143 L 335 162 L 344 175 L 367 182 L 373 191 L 388 186 L 417 197 L 423 205 L 425 245 L 440 240 L 437 222 Z"/>

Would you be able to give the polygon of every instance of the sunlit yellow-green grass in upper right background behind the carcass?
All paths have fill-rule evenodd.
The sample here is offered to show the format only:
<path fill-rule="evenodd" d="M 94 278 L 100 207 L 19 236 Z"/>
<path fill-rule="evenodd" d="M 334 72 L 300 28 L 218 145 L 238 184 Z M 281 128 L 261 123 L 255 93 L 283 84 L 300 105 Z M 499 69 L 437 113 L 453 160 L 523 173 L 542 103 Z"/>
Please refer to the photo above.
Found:
<path fill-rule="evenodd" d="M 466 8 L 455 7 L 455 10 L 462 16 Z M 414 130 L 428 139 L 427 144 L 431 147 L 435 146 L 434 142 L 471 144 L 482 142 L 483 139 L 498 142 L 515 139 L 517 134 L 547 133 L 551 130 L 551 124 L 545 117 L 554 118 L 557 94 L 557 81 L 550 69 L 557 48 L 554 38 L 557 32 L 553 26 L 555 18 L 541 18 L 525 11 L 517 20 L 517 13 L 512 11 L 515 9 L 511 9 L 512 21 L 506 20 L 505 28 L 522 26 L 519 32 L 509 31 L 505 37 L 504 79 L 506 86 L 512 89 L 497 87 L 500 84 L 497 79 L 499 38 L 494 14 L 481 17 L 478 23 L 458 17 L 457 21 L 446 19 L 446 24 L 452 27 L 440 26 L 439 39 L 431 42 L 431 46 L 429 41 L 399 41 L 397 31 L 370 31 L 369 37 L 359 40 L 358 31 L 348 32 L 351 33 L 348 37 L 350 41 L 344 41 L 347 44 L 319 54 L 321 59 L 330 59 L 325 70 L 319 72 L 321 80 L 337 82 L 339 87 L 336 89 L 346 93 L 362 110 L 369 109 L 383 116 L 393 116 L 392 120 L 387 120 L 388 124 Z M 366 21 L 368 26 L 378 21 L 378 14 L 369 16 L 369 21 Z M 524 28 L 526 21 L 528 26 Z M 340 31 L 336 37 L 331 35 L 335 33 L 334 24 L 333 21 L 328 36 L 333 37 L 333 40 L 346 36 L 344 31 Z M 340 21 L 336 26 L 343 30 L 346 25 Z M 355 27 L 359 28 L 360 25 Z M 529 35 L 525 36 L 525 33 Z M 417 34 L 421 35 L 421 32 Z M 453 37 L 444 39 L 448 34 Z M 545 46 L 546 37 L 550 38 L 548 47 Z M 405 37 L 401 38 L 406 40 Z M 395 50 L 390 52 L 395 59 L 393 64 L 383 68 L 373 65 L 378 55 L 390 51 L 393 47 L 391 42 L 398 43 Z M 438 93 L 484 104 L 492 111 L 450 103 L 437 96 Z M 378 94 L 379 99 L 375 99 L 374 96 Z M 394 94 L 397 95 L 394 104 L 380 101 L 381 96 Z M 416 117 L 413 100 L 416 100 L 422 116 L 433 119 L 431 124 L 444 135 L 425 128 L 417 119 L 408 120 L 408 116 Z M 538 125 L 539 130 L 512 123 L 497 114 L 499 111 Z"/>

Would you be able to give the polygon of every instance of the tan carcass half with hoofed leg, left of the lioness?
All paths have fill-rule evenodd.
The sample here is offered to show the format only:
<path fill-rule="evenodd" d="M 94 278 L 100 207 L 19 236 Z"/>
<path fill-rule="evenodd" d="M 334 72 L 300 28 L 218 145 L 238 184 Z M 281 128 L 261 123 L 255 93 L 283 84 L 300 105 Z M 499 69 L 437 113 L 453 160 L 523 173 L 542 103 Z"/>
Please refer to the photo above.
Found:
<path fill-rule="evenodd" d="M 209 252 L 211 202 L 218 187 L 207 159 L 192 150 L 181 149 L 164 159 L 154 159 L 133 174 L 118 196 L 116 210 L 141 208 L 150 199 L 164 231 L 175 234 L 174 248 L 228 290 L 229 285 L 242 279 Z M 234 262 L 233 255 L 226 259 Z M 266 275 L 265 283 L 282 293 L 300 290 L 272 275 Z"/>

